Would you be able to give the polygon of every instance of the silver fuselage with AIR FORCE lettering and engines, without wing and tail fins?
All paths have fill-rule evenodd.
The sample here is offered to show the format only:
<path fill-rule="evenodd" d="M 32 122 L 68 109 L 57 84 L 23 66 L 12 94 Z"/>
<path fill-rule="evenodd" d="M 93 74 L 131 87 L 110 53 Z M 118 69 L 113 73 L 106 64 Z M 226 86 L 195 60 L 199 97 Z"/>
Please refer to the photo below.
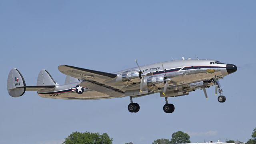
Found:
<path fill-rule="evenodd" d="M 117 74 L 116 78 L 106 80 L 103 84 L 123 93 L 118 97 L 139 97 L 158 92 L 162 97 L 174 97 L 186 95 L 196 89 L 213 86 L 215 84 L 211 82 L 212 79 L 218 80 L 236 70 L 235 65 L 220 63 L 217 60 L 173 60 L 140 66 L 140 69 L 135 67 L 114 72 L 114 74 Z M 141 77 L 132 77 L 138 75 L 140 71 L 144 74 L 144 86 L 141 86 Z M 165 80 L 167 80 L 164 77 L 169 80 L 166 94 L 161 93 Z M 48 89 L 47 91 L 39 90 L 38 95 L 44 98 L 74 100 L 116 98 L 116 96 L 90 90 L 83 86 L 82 82 L 83 80 L 57 85 L 54 89 Z M 77 93 L 76 86 L 83 87 L 82 94 Z M 143 87 L 143 90 L 140 91 L 141 87 Z"/>

